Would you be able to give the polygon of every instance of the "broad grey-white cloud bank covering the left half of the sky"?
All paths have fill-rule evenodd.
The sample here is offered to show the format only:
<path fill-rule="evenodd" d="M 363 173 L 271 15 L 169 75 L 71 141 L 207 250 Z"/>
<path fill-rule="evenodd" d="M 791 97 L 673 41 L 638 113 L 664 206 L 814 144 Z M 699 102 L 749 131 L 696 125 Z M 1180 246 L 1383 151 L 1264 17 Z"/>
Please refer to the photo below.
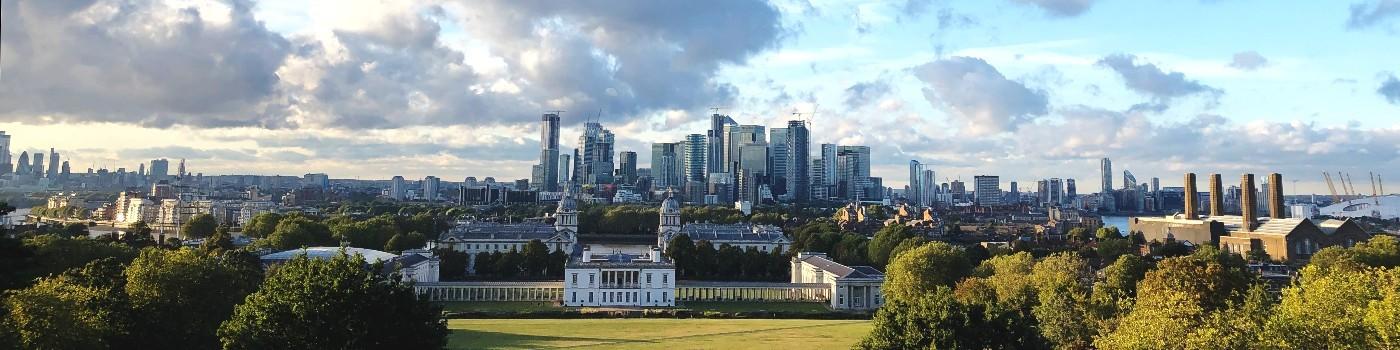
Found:
<path fill-rule="evenodd" d="M 290 38 L 248 0 L 185 3 L 6 0 L 0 118 L 396 127 L 564 109 L 627 120 L 731 101 L 717 71 L 785 35 L 757 0 L 403 1 Z M 466 43 L 448 45 L 448 27 Z"/>

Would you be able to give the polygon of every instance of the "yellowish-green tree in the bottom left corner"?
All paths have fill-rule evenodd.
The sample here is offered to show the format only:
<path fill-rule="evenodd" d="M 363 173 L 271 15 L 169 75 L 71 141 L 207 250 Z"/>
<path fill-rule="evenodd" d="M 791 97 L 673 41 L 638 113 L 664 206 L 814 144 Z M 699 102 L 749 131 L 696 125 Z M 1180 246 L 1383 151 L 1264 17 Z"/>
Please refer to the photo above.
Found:
<path fill-rule="evenodd" d="M 21 349 L 120 347 L 129 319 L 122 263 L 101 259 L 4 297 L 6 328 Z"/>

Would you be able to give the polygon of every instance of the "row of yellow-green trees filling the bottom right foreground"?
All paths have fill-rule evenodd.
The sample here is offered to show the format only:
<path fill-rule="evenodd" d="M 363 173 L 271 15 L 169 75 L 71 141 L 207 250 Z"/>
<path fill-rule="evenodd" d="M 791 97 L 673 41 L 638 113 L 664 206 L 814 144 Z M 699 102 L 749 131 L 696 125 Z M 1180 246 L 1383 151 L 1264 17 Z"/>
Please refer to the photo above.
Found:
<path fill-rule="evenodd" d="M 858 347 L 1400 347 L 1400 241 L 1392 237 L 1317 252 L 1281 293 L 1243 256 L 1212 246 L 1093 266 L 1077 252 L 973 263 L 963 248 L 923 244 L 890 259 L 886 304 Z"/>

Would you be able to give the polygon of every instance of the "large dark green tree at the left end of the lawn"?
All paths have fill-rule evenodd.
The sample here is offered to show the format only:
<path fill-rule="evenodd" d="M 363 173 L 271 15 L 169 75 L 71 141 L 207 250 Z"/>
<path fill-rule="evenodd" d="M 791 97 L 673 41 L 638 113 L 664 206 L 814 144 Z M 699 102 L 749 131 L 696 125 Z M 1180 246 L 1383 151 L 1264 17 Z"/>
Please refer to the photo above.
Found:
<path fill-rule="evenodd" d="M 218 337 L 224 349 L 441 349 L 440 312 L 360 256 L 298 256 L 270 272 Z"/>

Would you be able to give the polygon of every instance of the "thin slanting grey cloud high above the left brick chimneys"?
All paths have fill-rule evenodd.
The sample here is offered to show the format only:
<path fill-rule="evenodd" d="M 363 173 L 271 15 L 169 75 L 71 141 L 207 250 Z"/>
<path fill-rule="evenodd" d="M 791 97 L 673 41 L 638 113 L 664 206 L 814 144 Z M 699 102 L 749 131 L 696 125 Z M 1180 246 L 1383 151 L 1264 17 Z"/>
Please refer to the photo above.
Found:
<path fill-rule="evenodd" d="M 1159 105 L 1165 105 L 1179 97 L 1203 94 L 1217 98 L 1224 94 L 1218 88 L 1186 78 L 1186 74 L 1179 71 L 1168 73 L 1162 71 L 1156 64 L 1138 63 L 1137 56 L 1133 55 L 1109 55 L 1100 59 L 1098 64 L 1112 69 L 1123 77 L 1123 83 L 1128 90 L 1148 95 Z"/>

